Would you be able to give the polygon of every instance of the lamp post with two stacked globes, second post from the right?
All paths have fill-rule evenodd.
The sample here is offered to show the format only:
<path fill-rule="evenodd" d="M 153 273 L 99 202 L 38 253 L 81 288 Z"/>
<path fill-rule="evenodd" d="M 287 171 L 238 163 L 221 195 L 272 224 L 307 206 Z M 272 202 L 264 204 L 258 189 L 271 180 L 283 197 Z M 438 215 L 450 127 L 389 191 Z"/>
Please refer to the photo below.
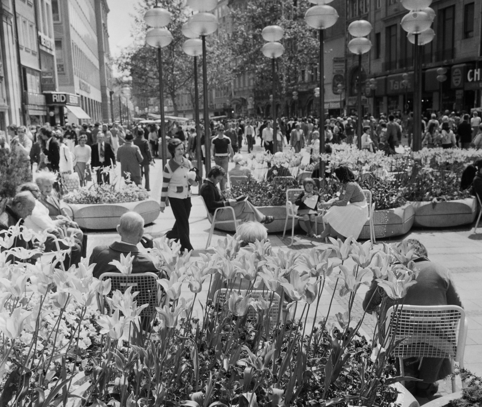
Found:
<path fill-rule="evenodd" d="M 348 42 L 348 49 L 352 54 L 358 55 L 358 121 L 357 121 L 357 146 L 362 149 L 362 55 L 372 48 L 372 41 L 365 38 L 372 31 L 372 25 L 366 20 L 353 21 L 348 26 L 348 32 L 355 38 Z"/>

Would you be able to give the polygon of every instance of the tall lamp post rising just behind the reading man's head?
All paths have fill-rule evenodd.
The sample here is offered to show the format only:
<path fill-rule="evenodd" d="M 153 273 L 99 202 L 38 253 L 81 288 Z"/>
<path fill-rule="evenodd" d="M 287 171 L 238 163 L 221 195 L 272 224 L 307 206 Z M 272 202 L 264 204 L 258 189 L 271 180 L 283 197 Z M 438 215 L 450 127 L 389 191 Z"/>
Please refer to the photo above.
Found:
<path fill-rule="evenodd" d="M 206 175 L 211 170 L 211 137 L 209 126 L 209 106 L 208 106 L 208 77 L 206 63 L 206 36 L 217 30 L 217 17 L 207 13 L 216 7 L 217 0 L 188 0 L 187 5 L 199 13 L 192 15 L 188 20 L 189 29 L 201 37 L 202 45 L 202 93 L 204 110 L 204 147 L 206 150 L 205 167 Z"/>

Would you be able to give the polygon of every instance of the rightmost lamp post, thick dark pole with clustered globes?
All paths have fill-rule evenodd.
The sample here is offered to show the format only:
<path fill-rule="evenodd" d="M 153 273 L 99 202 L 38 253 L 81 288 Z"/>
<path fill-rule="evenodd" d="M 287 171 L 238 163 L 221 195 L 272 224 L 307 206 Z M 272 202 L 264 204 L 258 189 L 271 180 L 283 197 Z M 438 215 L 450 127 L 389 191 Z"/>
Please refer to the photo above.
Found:
<path fill-rule="evenodd" d="M 400 22 L 407 38 L 414 44 L 414 141 L 413 149 L 422 148 L 422 64 L 419 45 L 428 44 L 435 33 L 430 28 L 435 12 L 428 7 L 432 0 L 402 0 L 405 9 L 410 10 Z"/>

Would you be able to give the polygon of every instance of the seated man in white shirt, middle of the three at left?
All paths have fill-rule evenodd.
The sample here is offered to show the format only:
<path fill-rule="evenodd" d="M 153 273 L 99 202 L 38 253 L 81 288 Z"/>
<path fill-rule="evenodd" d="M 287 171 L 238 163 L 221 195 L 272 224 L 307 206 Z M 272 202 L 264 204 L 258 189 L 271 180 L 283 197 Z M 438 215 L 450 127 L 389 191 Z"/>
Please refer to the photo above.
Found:
<path fill-rule="evenodd" d="M 68 221 L 60 219 L 52 219 L 49 216 L 49 210 L 39 201 L 40 198 L 40 188 L 37 184 L 33 182 L 27 182 L 20 186 L 21 191 L 29 191 L 35 197 L 35 207 L 32 213 L 25 218 L 24 226 L 31 229 L 37 233 L 48 232 L 53 234 L 57 239 L 62 239 L 65 236 L 64 230 L 62 229 Z M 66 256 L 64 260 L 64 267 L 66 270 L 72 264 L 79 264 L 82 255 L 82 242 L 79 241 L 74 235 L 75 244 L 71 247 L 70 254 Z M 67 249 L 69 246 L 59 242 L 59 247 L 61 249 Z M 45 252 L 54 252 L 56 250 L 55 240 L 53 237 L 47 237 L 45 241 Z"/>

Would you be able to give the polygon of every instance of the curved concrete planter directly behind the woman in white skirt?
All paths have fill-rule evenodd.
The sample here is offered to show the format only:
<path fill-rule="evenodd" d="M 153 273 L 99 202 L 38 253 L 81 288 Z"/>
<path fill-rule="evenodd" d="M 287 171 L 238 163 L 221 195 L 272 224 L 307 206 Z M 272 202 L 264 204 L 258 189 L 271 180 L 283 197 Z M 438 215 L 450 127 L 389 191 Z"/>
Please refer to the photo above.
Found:
<path fill-rule="evenodd" d="M 415 211 L 411 204 L 393 209 L 375 211 L 375 238 L 400 236 L 407 233 L 414 223 Z M 318 218 L 318 233 L 323 231 L 323 220 Z M 306 231 L 305 222 L 299 222 L 301 229 Z M 358 239 L 370 239 L 370 225 L 365 223 Z"/>

